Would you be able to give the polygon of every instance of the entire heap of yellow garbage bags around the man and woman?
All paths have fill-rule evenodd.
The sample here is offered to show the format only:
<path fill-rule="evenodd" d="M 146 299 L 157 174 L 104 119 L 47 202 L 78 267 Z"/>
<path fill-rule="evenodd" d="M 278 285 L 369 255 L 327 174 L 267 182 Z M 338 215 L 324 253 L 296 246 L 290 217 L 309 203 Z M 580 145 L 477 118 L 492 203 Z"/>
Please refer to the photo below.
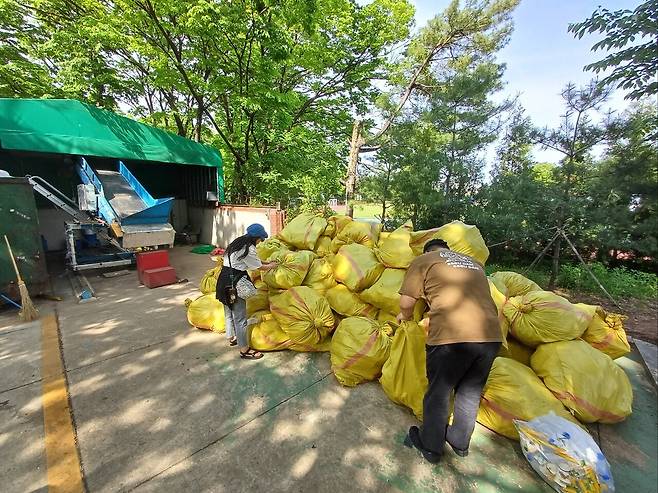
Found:
<path fill-rule="evenodd" d="M 353 387 L 378 380 L 386 395 L 423 419 L 427 389 L 427 307 L 398 325 L 406 269 L 434 238 L 484 266 L 489 250 L 477 227 L 453 221 L 392 232 L 346 216 L 300 214 L 257 247 L 278 266 L 250 273 L 257 294 L 247 300 L 250 344 L 259 351 L 329 352 L 337 381 Z M 191 325 L 224 330 L 214 297 L 221 264 L 186 300 Z M 554 412 L 574 423 L 615 423 L 631 413 L 630 382 L 614 361 L 628 354 L 624 317 L 573 304 L 516 272 L 489 277 L 504 343 L 482 394 L 478 421 L 518 439 L 513 420 Z"/>

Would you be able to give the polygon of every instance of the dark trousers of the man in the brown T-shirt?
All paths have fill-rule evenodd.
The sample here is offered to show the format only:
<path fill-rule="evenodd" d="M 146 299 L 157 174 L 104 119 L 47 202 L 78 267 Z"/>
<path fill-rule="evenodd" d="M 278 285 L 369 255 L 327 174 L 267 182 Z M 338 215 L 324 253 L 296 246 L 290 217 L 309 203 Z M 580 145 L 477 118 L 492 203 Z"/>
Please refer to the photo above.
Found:
<path fill-rule="evenodd" d="M 466 450 L 475 428 L 480 394 L 500 349 L 499 342 L 463 342 L 425 346 L 428 387 L 423 400 L 423 448 L 442 454 L 446 439 Z M 450 394 L 455 391 L 452 425 Z"/>

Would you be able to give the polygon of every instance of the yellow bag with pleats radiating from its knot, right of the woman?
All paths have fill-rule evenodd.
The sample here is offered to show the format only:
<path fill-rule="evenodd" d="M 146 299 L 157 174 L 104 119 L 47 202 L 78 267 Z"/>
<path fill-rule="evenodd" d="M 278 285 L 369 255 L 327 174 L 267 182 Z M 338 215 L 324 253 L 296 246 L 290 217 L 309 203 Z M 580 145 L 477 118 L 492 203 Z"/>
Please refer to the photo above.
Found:
<path fill-rule="evenodd" d="M 296 344 L 318 344 L 334 330 L 329 303 L 307 286 L 290 288 L 270 297 L 270 310 Z"/>

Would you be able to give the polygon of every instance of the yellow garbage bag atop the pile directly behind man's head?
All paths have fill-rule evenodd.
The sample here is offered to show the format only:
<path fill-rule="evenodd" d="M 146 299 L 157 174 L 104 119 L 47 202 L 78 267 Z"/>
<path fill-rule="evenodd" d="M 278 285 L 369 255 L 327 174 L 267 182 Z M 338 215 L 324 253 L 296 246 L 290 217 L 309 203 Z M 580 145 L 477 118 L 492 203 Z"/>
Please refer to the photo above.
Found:
<path fill-rule="evenodd" d="M 411 233 L 409 246 L 415 255 L 420 255 L 423 253 L 425 243 L 435 238 L 445 241 L 451 250 L 473 257 L 482 265 L 489 258 L 489 249 L 480 230 L 461 221 L 452 221 L 440 228 Z"/>

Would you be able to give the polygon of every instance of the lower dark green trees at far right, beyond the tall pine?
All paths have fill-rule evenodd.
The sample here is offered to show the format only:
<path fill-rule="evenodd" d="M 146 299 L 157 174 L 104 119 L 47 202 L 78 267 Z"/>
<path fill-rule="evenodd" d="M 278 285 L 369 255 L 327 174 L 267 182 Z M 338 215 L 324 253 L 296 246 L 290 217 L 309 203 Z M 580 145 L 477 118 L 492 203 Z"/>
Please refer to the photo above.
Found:
<path fill-rule="evenodd" d="M 469 219 L 490 245 L 505 242 L 492 250 L 499 259 L 516 256 L 530 261 L 551 240 L 554 228 L 563 225 L 585 258 L 611 266 L 623 262 L 640 269 L 655 268 L 656 110 L 636 104 L 614 120 L 594 124 L 587 112 L 603 97 L 600 87 L 591 84 L 584 94 L 567 89 L 562 127 L 530 135 L 520 131 L 515 139 L 503 140 L 499 156 L 517 158 L 511 164 L 499 161 L 492 182 L 480 188 Z M 514 124 L 512 119 L 510 125 Z M 560 150 L 564 159 L 557 165 L 514 164 L 519 162 L 518 150 L 533 138 Z M 594 158 L 594 145 L 604 146 L 602 157 Z M 552 254 L 553 250 L 548 252 L 549 259 Z M 562 248 L 562 254 L 567 262 L 576 260 L 568 247 Z"/>

